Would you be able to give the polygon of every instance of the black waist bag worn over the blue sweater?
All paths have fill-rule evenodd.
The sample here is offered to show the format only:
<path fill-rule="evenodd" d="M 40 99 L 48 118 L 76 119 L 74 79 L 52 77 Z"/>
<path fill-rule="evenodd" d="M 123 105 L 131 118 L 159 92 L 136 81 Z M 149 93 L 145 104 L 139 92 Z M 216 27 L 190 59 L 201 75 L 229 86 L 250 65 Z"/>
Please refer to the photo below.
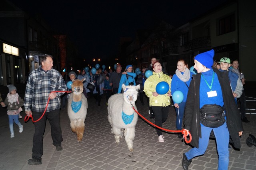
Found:
<path fill-rule="evenodd" d="M 225 123 L 224 115 L 224 109 L 220 105 L 204 105 L 200 109 L 200 123 L 206 127 L 220 127 Z"/>

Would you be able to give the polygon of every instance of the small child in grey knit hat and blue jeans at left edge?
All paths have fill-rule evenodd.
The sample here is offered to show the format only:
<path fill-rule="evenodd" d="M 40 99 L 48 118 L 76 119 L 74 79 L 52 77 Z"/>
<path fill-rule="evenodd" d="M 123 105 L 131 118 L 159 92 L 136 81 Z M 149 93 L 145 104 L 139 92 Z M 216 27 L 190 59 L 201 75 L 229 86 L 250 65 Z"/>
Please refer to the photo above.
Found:
<path fill-rule="evenodd" d="M 18 93 L 16 93 L 16 87 L 14 85 L 8 85 L 9 92 L 4 102 L 1 102 L 2 107 L 7 107 L 7 115 L 9 117 L 9 127 L 11 132 L 11 138 L 14 138 L 13 122 L 16 123 L 21 133 L 23 131 L 23 126 L 19 122 L 19 113 L 22 111 L 23 99 L 20 98 Z"/>

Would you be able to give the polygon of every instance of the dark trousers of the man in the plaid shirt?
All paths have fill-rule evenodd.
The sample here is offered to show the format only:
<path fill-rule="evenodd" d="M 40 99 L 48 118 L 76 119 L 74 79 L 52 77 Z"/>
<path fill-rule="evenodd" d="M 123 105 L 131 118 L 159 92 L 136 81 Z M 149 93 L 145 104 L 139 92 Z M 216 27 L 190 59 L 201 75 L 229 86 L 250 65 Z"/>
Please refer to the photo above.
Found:
<path fill-rule="evenodd" d="M 34 121 L 38 120 L 44 112 L 33 111 Z M 48 119 L 51 125 L 52 141 L 54 146 L 60 146 L 62 139 L 62 132 L 60 128 L 60 109 L 56 109 L 50 112 L 46 112 L 40 121 L 35 122 L 35 133 L 33 137 L 32 158 L 41 157 L 43 155 L 43 138 L 46 125 L 46 119 Z"/>

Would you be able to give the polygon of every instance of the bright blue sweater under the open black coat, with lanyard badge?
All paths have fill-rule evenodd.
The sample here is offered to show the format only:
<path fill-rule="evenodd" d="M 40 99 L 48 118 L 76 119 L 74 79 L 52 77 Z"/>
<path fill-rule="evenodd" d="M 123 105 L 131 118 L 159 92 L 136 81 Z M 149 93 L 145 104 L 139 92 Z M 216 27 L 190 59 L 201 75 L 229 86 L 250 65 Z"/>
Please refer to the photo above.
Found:
<path fill-rule="evenodd" d="M 214 73 L 214 79 L 212 83 L 213 73 L 214 71 L 210 69 L 209 71 L 206 71 L 201 75 L 200 93 L 199 93 L 200 108 L 202 108 L 203 105 L 206 105 L 206 104 L 216 104 L 216 105 L 220 105 L 221 107 L 224 105 L 220 82 L 218 80 L 218 76 L 216 73 Z M 208 87 L 204 79 L 207 81 L 209 85 L 211 85 L 212 83 L 212 91 L 216 90 L 217 96 L 208 97 L 207 92 L 210 91 L 210 88 Z"/>

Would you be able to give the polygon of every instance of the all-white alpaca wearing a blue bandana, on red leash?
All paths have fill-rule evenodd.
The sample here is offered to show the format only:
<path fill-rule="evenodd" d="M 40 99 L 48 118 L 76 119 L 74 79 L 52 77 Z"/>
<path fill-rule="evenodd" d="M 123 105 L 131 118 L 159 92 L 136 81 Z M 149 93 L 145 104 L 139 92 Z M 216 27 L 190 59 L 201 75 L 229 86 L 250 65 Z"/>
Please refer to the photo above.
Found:
<path fill-rule="evenodd" d="M 108 121 L 111 126 L 111 133 L 115 135 L 116 143 L 120 142 L 124 130 L 126 144 L 132 152 L 132 140 L 135 137 L 135 126 L 138 120 L 138 115 L 132 109 L 132 105 L 137 110 L 135 101 L 138 97 L 140 85 L 125 86 L 123 84 L 122 89 L 123 94 L 115 94 L 108 99 Z"/>

